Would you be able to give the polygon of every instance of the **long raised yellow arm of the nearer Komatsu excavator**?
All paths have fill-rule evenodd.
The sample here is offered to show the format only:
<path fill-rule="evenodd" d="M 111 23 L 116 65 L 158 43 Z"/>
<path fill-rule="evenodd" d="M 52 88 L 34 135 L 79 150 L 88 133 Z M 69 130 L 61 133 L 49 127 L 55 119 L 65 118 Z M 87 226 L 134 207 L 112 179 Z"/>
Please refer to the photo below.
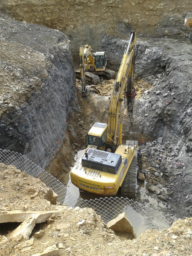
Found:
<path fill-rule="evenodd" d="M 133 118 L 134 96 L 133 87 L 134 61 L 136 51 L 136 33 L 131 31 L 131 37 L 128 46 L 125 48 L 121 66 L 117 78 L 114 82 L 113 91 L 110 97 L 108 108 L 108 133 L 106 144 L 112 152 L 116 150 L 117 145 L 122 142 L 122 101 L 126 100 L 128 117 Z M 119 121 L 120 112 L 120 121 Z M 119 138 L 117 138 L 117 127 L 119 121 Z"/>

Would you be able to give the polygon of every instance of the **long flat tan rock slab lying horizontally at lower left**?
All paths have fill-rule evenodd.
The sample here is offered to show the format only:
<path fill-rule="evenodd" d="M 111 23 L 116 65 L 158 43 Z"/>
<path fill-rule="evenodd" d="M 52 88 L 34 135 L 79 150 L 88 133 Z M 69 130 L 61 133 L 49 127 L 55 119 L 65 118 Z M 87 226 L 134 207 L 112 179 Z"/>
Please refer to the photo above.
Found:
<path fill-rule="evenodd" d="M 36 219 L 35 223 L 42 223 L 45 222 L 54 212 L 60 212 L 60 210 L 57 211 L 9 211 L 6 213 L 0 213 L 0 223 L 6 223 L 6 222 L 23 222 L 29 217 Z"/>

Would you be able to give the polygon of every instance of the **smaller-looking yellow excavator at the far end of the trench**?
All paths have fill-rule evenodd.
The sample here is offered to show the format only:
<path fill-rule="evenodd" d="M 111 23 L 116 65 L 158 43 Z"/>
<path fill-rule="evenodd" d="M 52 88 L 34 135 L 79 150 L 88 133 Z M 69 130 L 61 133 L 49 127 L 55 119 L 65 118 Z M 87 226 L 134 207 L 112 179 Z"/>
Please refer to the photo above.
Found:
<path fill-rule="evenodd" d="M 107 59 L 105 52 L 93 52 L 90 45 L 80 46 L 79 49 L 79 70 L 76 70 L 76 77 L 81 77 L 82 94 L 89 94 L 89 85 L 100 82 L 99 76 L 107 79 L 114 79 L 116 73 L 106 68 Z M 88 72 L 89 71 L 89 72 Z"/>

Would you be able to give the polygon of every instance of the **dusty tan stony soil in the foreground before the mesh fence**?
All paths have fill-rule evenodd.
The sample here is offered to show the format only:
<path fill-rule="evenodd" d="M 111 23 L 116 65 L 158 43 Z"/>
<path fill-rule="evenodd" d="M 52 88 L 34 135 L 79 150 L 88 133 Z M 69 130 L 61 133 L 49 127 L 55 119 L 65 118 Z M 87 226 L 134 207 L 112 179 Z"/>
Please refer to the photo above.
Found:
<path fill-rule="evenodd" d="M 162 231 L 147 230 L 133 240 L 127 240 L 106 228 L 105 223 L 90 208 L 73 209 L 68 206 L 52 205 L 44 199 L 45 185 L 14 166 L 0 164 L 1 198 L 0 212 L 11 210 L 50 211 L 60 210 L 52 214 L 52 222 L 36 224 L 27 243 L 22 237 L 9 238 L 10 232 L 19 226 L 0 224 L 0 255 L 26 256 L 43 252 L 48 246 L 59 248 L 57 255 L 191 255 L 192 218 L 178 220 L 169 229 Z M 31 198 L 36 192 L 37 195 Z M 78 224 L 84 220 L 83 224 Z M 66 228 L 57 230 L 58 224 L 67 224 Z M 34 234 L 44 231 L 42 237 Z M 153 234 L 153 236 L 151 236 Z M 7 239 L 6 239 L 7 238 Z M 4 240 L 4 241 L 3 241 Z"/>

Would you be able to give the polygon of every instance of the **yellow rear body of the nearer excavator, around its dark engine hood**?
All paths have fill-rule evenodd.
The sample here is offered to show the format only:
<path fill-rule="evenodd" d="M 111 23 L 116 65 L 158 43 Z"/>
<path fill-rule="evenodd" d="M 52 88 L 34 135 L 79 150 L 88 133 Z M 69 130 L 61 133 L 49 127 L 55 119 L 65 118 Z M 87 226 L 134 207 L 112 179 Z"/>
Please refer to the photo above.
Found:
<path fill-rule="evenodd" d="M 94 147 L 89 146 L 86 150 L 92 150 L 92 148 Z M 105 196 L 116 195 L 132 162 L 135 154 L 134 149 L 135 147 L 128 148 L 124 145 L 117 148 L 115 155 L 120 155 L 122 160 L 116 174 L 97 170 L 99 168 L 92 169 L 82 166 L 83 153 L 71 171 L 71 182 L 79 189 L 87 192 Z M 102 150 L 99 151 L 103 152 Z"/>

